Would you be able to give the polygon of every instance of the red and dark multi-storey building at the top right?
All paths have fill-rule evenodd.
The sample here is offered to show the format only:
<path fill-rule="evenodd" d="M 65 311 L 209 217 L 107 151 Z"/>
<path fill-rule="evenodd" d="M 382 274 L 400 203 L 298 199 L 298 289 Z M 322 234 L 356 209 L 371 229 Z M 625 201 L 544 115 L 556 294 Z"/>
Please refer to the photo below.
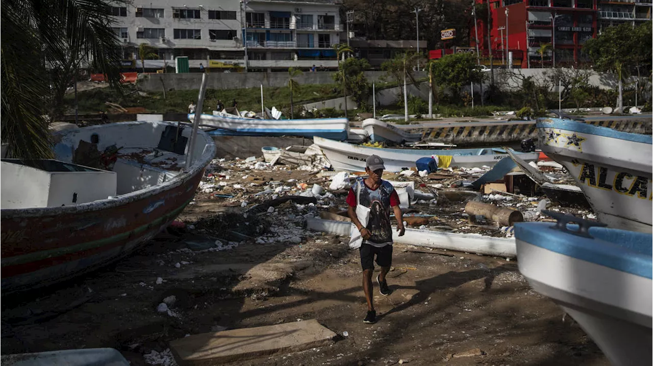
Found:
<path fill-rule="evenodd" d="M 588 61 L 581 48 L 586 40 L 596 37 L 597 0 L 489 1 L 494 65 L 507 64 L 506 50 L 513 52 L 512 67 L 577 65 Z M 487 0 L 477 0 L 477 3 L 487 3 Z M 487 15 L 476 15 L 479 51 L 488 57 L 487 26 L 483 21 Z M 474 32 L 472 23 L 472 47 L 476 46 Z M 555 55 L 549 47 L 542 63 L 538 50 L 545 43 L 554 45 Z M 489 64 L 486 59 L 485 65 Z"/>

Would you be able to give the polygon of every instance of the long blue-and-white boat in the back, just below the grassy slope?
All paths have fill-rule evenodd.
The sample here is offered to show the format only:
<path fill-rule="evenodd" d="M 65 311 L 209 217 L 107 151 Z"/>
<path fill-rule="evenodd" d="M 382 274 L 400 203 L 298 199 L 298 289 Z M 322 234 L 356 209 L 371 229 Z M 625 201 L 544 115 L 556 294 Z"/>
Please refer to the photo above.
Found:
<path fill-rule="evenodd" d="M 189 114 L 188 119 L 193 121 L 195 114 Z M 216 111 L 202 114 L 200 124 L 215 127 L 208 133 L 221 136 L 321 136 L 340 141 L 347 139 L 349 131 L 346 118 L 259 119 Z"/>

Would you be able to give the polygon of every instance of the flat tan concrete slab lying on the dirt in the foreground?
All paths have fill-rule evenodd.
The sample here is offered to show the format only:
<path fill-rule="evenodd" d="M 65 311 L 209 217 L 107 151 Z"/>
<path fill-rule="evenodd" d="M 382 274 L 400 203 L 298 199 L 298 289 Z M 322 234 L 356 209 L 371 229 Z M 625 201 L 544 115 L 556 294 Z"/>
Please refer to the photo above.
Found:
<path fill-rule="evenodd" d="M 170 350 L 180 366 L 218 365 L 326 346 L 335 336 L 311 319 L 191 335 L 170 342 Z"/>

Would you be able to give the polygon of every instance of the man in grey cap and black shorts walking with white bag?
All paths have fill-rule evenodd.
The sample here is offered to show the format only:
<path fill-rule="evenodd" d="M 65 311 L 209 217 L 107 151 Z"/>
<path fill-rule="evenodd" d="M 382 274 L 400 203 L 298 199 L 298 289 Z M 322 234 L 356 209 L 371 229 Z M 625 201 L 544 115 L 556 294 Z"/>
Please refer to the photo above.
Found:
<path fill-rule="evenodd" d="M 390 271 L 392 265 L 392 226 L 390 223 L 390 207 L 394 211 L 397 220 L 397 231 L 403 236 L 406 229 L 402 218 L 402 210 L 399 208 L 399 195 L 394 187 L 381 179 L 383 175 L 383 159 L 377 155 L 371 155 L 366 160 L 366 179 L 358 178 L 349 190 L 347 196 L 347 211 L 351 221 L 360 231 L 363 242 L 360 245 L 360 265 L 363 269 L 363 291 L 368 304 L 368 312 L 363 322 L 373 324 L 376 322 L 376 311 L 372 302 L 372 273 L 374 272 L 374 256 L 376 264 L 381 267 L 381 273 L 377 275 L 376 282 L 379 284 L 381 295 L 390 295 L 390 288 L 385 275 Z M 366 226 L 360 223 L 356 215 L 356 206 L 362 205 L 370 209 L 370 217 Z"/>

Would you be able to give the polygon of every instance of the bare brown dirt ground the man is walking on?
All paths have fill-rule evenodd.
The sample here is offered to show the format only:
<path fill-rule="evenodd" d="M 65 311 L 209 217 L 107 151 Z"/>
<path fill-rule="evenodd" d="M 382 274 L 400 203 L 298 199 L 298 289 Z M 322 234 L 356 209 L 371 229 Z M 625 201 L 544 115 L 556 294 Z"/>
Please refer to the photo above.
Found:
<path fill-rule="evenodd" d="M 287 174 L 273 173 L 261 179 Z M 194 228 L 168 230 L 86 277 L 3 300 L 0 353 L 112 347 L 132 365 L 173 365 L 159 352 L 185 335 L 315 318 L 338 334 L 332 345 L 232 365 L 609 365 L 506 258 L 395 245 L 392 294 L 375 285 L 379 319 L 364 324 L 358 252 L 348 238 L 303 229 L 304 215 L 328 205 L 286 203 L 244 217 L 240 199 L 200 192 L 180 217 L 199 221 Z M 157 313 L 172 295 L 170 311 Z"/>

